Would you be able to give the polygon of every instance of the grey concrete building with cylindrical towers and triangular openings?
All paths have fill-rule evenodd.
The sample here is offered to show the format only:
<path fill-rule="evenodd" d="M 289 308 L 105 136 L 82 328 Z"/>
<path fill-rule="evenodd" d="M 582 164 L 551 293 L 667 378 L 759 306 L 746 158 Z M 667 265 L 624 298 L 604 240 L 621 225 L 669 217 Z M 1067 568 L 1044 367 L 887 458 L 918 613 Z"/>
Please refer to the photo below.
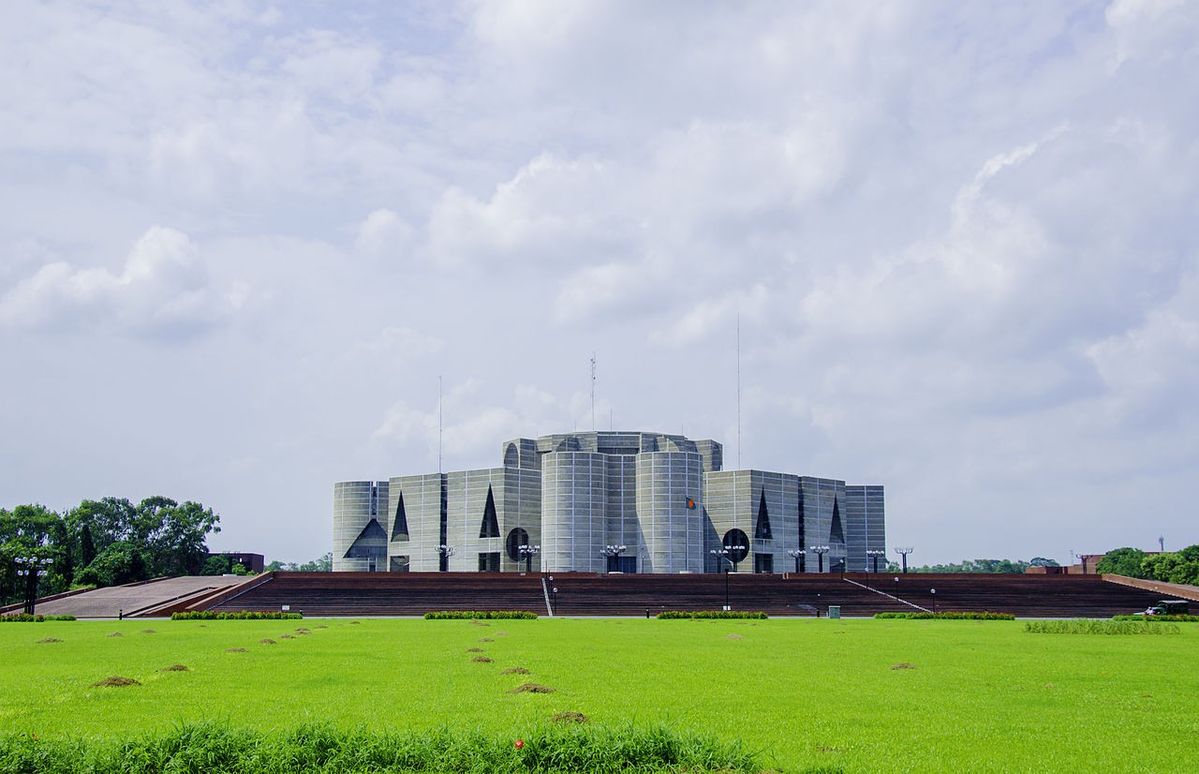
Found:
<path fill-rule="evenodd" d="M 501 454 L 499 467 L 335 484 L 333 570 L 863 572 L 885 546 L 882 486 L 725 471 L 711 440 L 568 433 Z"/>

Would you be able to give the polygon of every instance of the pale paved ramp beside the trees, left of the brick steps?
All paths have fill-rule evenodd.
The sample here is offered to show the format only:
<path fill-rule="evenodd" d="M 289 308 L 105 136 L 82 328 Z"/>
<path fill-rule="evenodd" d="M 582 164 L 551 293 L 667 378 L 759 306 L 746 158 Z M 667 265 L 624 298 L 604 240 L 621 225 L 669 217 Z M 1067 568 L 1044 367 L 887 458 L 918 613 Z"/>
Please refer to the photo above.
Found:
<path fill-rule="evenodd" d="M 247 580 L 239 575 L 181 575 L 128 586 L 109 586 L 38 603 L 37 612 L 76 618 L 115 618 L 119 612 L 135 616 L 171 603 L 199 599 Z"/>

